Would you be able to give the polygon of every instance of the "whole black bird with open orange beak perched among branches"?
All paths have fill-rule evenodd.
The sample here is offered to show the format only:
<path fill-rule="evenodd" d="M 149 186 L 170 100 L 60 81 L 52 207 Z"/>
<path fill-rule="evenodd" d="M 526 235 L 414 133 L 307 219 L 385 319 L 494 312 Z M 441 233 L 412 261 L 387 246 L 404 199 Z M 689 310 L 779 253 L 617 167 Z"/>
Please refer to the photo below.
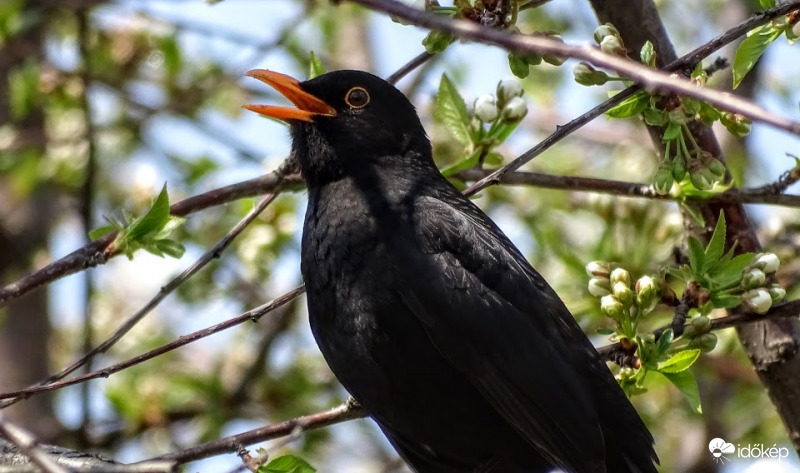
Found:
<path fill-rule="evenodd" d="M 653 438 L 558 295 L 438 171 L 411 103 L 360 71 L 247 73 L 298 108 L 311 329 L 420 473 L 655 472 Z"/>

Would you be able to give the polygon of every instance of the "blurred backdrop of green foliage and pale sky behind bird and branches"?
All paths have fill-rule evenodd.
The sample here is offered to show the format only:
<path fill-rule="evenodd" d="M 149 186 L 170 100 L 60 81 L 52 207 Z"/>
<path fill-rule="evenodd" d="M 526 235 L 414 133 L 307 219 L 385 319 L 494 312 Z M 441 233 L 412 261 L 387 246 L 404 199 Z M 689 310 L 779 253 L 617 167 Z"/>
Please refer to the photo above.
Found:
<path fill-rule="evenodd" d="M 747 0 L 657 2 L 678 54 L 742 22 L 758 8 Z M 691 21 L 687 19 L 691 18 Z M 587 2 L 553 0 L 520 13 L 524 33 L 557 31 L 590 43 L 597 20 Z M 245 103 L 283 103 L 243 77 L 269 68 L 306 78 L 313 51 L 329 70 L 355 68 L 387 77 L 424 51 L 426 31 L 351 4 L 306 0 L 4 0 L 0 4 L 0 283 L 12 283 L 88 242 L 88 231 L 122 209 L 141 215 L 166 183 L 170 200 L 251 179 L 289 153 L 287 128 L 243 111 Z M 733 48 L 718 53 L 729 59 Z M 713 60 L 712 56 L 710 60 Z M 800 61 L 779 40 L 737 94 L 770 111 L 797 116 Z M 710 62 L 710 61 L 709 61 Z M 575 61 L 542 64 L 521 81 L 528 115 L 499 149 L 508 162 L 607 98 L 608 87 L 573 81 Z M 467 103 L 494 94 L 511 77 L 507 53 L 455 43 L 412 71 L 398 87 L 415 103 L 444 167 L 463 158 L 432 104 L 446 73 Z M 710 85 L 730 89 L 728 70 Z M 717 133 L 736 184 L 759 186 L 794 167 L 798 141 L 754 125 L 744 139 Z M 600 118 L 525 169 L 558 175 L 650 183 L 656 157 L 639 120 Z M 191 215 L 176 239 L 180 259 L 145 252 L 61 279 L 0 308 L 0 391 L 61 369 L 104 340 L 159 289 L 252 209 L 254 199 Z M 597 345 L 604 319 L 586 289 L 584 265 L 623 263 L 634 277 L 673 261 L 683 238 L 674 204 L 586 192 L 495 186 L 485 209 L 544 274 Z M 234 244 L 169 296 L 94 368 L 128 359 L 180 335 L 229 319 L 296 287 L 302 191 L 283 193 Z M 747 208 L 778 274 L 797 297 L 796 229 L 800 212 Z M 669 318 L 664 312 L 653 327 Z M 652 430 L 669 472 L 798 471 L 800 464 L 733 330 L 692 368 L 704 414 L 694 414 L 663 379 L 634 403 Z M 122 462 L 338 405 L 347 393 L 322 360 L 308 329 L 303 297 L 271 313 L 108 379 L 33 396 L 6 412 L 40 439 L 101 451 Z M 777 445 L 779 462 L 734 459 L 721 465 L 708 442 Z M 320 472 L 403 472 L 369 420 L 303 433 L 291 452 Z M 187 471 L 229 471 L 234 455 Z"/>

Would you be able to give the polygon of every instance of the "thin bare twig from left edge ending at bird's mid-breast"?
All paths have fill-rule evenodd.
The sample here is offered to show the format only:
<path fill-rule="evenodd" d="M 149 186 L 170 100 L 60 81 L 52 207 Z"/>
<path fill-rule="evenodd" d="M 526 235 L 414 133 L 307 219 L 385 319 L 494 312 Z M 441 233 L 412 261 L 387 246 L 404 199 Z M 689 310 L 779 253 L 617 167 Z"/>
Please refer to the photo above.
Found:
<path fill-rule="evenodd" d="M 247 322 L 248 320 L 253 322 L 258 322 L 258 319 L 263 317 L 264 315 L 272 312 L 273 310 L 281 307 L 284 304 L 289 303 L 294 298 L 299 296 L 305 292 L 305 287 L 300 286 L 298 288 L 292 289 L 291 291 L 278 296 L 277 298 L 273 299 L 266 304 L 263 304 L 255 309 L 249 310 L 239 316 L 236 316 L 232 319 L 228 319 L 224 322 L 220 322 L 216 325 L 212 325 L 211 327 L 204 328 L 202 330 L 198 330 L 196 332 L 192 332 L 188 335 L 184 335 L 177 340 L 167 343 L 166 345 L 162 345 L 158 348 L 150 350 L 148 352 L 142 353 L 141 355 L 135 356 L 128 360 L 122 361 L 120 363 L 116 363 L 111 365 L 107 368 L 103 368 L 100 370 L 95 370 L 90 373 L 86 373 L 80 376 L 76 376 L 74 378 L 63 380 L 63 381 L 56 381 L 53 383 L 48 383 L 45 385 L 40 386 L 31 386 L 29 388 L 20 389 L 18 391 L 11 391 L 6 393 L 0 393 L 0 399 L 12 399 L 12 398 L 27 398 L 30 397 L 34 393 L 42 392 L 42 391 L 51 391 L 55 389 L 65 388 L 67 386 L 73 386 L 75 384 L 82 383 L 84 381 L 90 379 L 97 379 L 97 378 L 107 378 L 114 373 L 118 373 L 124 369 L 130 368 L 131 366 L 138 365 L 143 363 L 147 360 L 155 358 L 157 356 L 163 355 L 164 353 L 170 352 L 177 348 L 180 348 L 184 345 L 188 345 L 192 342 L 200 340 L 201 338 L 206 338 L 208 336 L 214 335 L 215 333 L 219 333 L 223 330 L 226 330 L 230 327 L 242 324 Z"/>

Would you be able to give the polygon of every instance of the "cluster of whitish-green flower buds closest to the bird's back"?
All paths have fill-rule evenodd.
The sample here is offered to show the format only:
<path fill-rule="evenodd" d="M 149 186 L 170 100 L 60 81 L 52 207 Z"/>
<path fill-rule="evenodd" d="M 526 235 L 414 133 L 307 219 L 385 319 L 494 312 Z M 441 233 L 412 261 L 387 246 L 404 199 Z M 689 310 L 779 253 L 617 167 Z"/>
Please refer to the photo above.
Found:
<path fill-rule="evenodd" d="M 589 275 L 589 294 L 600 298 L 600 310 L 616 322 L 630 317 L 636 307 L 637 317 L 647 315 L 661 299 L 658 283 L 650 276 L 642 276 L 631 289 L 631 274 L 623 268 L 611 269 L 605 261 L 592 261 L 586 265 Z"/>

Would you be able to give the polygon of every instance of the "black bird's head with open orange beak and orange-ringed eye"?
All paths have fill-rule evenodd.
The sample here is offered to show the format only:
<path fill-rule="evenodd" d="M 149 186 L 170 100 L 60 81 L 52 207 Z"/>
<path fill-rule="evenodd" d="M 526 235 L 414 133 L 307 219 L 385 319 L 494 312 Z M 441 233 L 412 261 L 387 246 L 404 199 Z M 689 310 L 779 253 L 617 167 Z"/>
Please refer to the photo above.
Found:
<path fill-rule="evenodd" d="M 247 75 L 266 82 L 297 107 L 245 105 L 289 123 L 292 146 L 309 185 L 375 164 L 430 161 L 430 142 L 414 106 L 377 76 L 345 70 L 300 82 L 266 69 Z"/>

